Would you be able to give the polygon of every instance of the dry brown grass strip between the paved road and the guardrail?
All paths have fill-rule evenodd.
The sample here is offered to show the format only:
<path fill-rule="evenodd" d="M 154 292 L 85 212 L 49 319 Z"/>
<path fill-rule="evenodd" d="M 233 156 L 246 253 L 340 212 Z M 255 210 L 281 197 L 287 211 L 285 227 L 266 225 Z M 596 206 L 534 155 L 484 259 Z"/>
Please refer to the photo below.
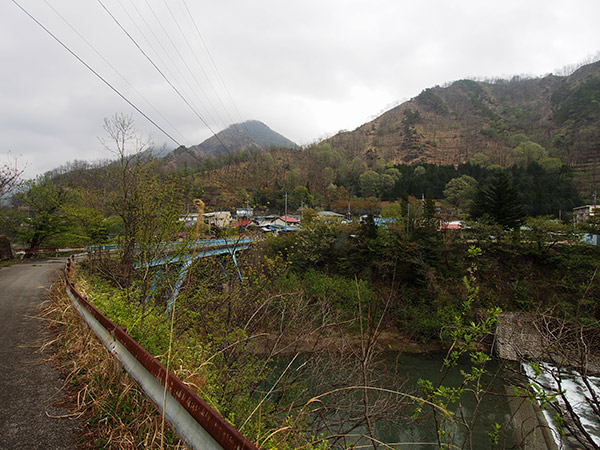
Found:
<path fill-rule="evenodd" d="M 83 419 L 80 448 L 185 448 L 169 426 L 161 436 L 160 414 L 81 319 L 62 282 L 43 314 L 54 332 L 52 359 Z"/>

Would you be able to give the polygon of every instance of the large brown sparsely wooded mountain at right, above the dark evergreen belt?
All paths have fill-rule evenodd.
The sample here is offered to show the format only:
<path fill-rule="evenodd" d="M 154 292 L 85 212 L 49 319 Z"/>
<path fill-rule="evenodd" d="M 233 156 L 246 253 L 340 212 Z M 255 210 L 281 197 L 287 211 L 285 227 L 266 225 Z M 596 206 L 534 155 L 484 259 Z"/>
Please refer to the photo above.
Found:
<path fill-rule="evenodd" d="M 520 144 L 535 143 L 545 158 L 560 159 L 595 183 L 600 175 L 600 61 L 569 76 L 459 80 L 425 89 L 325 142 L 368 163 L 459 164 L 475 157 L 501 166 L 516 161 Z"/>

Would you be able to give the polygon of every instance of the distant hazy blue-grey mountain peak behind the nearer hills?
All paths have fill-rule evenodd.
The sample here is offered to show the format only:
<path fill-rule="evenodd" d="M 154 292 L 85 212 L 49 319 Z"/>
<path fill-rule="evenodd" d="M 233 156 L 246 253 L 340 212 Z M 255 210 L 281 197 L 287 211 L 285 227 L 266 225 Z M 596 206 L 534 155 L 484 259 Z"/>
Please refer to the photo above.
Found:
<path fill-rule="evenodd" d="M 295 149 L 298 146 L 258 120 L 230 125 L 225 130 L 189 148 L 179 147 L 167 155 L 176 165 L 206 156 L 222 156 L 246 149 L 268 150 L 272 147 Z"/>

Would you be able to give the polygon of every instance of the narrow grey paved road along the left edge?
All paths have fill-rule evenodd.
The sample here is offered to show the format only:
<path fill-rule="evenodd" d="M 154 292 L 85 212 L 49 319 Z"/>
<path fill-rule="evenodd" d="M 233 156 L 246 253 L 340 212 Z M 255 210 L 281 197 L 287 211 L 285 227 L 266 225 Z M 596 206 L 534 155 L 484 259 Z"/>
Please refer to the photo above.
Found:
<path fill-rule="evenodd" d="M 74 449 L 76 421 L 56 406 L 62 380 L 44 362 L 51 339 L 35 316 L 64 259 L 0 269 L 0 450 Z"/>

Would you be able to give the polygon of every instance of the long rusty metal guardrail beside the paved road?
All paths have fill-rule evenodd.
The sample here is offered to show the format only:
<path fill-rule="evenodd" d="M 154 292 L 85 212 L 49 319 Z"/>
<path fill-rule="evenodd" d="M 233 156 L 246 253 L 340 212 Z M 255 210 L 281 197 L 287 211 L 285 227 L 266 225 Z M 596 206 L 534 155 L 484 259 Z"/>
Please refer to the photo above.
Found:
<path fill-rule="evenodd" d="M 177 434 L 193 449 L 258 450 L 237 429 L 156 358 L 133 340 L 122 327 L 111 322 L 82 296 L 71 282 L 73 258 L 67 260 L 67 294 L 90 328 L 109 352 L 164 414 Z M 167 395 L 165 401 L 165 384 Z"/>

